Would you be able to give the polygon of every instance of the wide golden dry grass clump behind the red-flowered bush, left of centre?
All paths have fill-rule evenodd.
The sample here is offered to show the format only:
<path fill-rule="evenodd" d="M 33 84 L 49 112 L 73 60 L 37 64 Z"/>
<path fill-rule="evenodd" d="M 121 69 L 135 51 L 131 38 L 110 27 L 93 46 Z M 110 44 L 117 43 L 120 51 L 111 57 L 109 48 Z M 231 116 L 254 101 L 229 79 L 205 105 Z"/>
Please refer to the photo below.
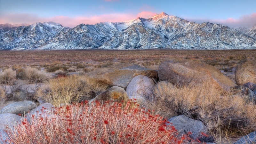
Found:
<path fill-rule="evenodd" d="M 87 76 L 72 75 L 49 80 L 47 87 L 39 89 L 36 95 L 58 106 L 61 103 L 90 100 L 110 86 Z"/>

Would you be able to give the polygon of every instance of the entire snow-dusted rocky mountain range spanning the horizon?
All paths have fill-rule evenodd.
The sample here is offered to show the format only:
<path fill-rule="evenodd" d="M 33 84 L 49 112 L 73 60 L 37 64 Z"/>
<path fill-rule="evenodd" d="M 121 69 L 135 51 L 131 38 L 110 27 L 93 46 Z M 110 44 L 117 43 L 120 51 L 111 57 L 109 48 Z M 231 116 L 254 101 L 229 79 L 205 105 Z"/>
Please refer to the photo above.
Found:
<path fill-rule="evenodd" d="M 0 49 L 244 49 L 256 39 L 220 24 L 197 24 L 166 13 L 149 19 L 80 24 L 68 29 L 53 22 L 35 23 L 0 33 Z"/>

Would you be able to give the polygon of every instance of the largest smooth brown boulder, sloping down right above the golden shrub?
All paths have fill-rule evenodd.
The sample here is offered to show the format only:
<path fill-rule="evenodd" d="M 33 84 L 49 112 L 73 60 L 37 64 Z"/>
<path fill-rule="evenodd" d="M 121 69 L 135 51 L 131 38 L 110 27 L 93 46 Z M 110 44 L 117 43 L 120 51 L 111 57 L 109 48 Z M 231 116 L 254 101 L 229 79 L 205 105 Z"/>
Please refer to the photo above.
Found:
<path fill-rule="evenodd" d="M 225 90 L 236 86 L 228 77 L 221 74 L 220 70 L 194 60 L 172 58 L 159 65 L 158 76 L 160 81 L 173 84 L 200 84 L 211 82 Z"/>

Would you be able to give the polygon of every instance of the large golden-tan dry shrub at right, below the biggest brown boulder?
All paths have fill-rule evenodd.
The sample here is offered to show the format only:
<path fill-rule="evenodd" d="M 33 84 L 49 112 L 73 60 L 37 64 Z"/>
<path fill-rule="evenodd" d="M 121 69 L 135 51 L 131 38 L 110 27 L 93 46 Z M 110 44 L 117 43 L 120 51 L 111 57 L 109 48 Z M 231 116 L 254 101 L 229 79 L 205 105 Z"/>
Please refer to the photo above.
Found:
<path fill-rule="evenodd" d="M 256 128 L 256 106 L 246 104 L 240 96 L 224 92 L 218 85 L 205 82 L 199 85 L 179 85 L 155 88 L 155 104 L 148 107 L 159 110 L 170 118 L 185 115 L 202 121 L 213 132 L 222 130 L 250 132 Z"/>

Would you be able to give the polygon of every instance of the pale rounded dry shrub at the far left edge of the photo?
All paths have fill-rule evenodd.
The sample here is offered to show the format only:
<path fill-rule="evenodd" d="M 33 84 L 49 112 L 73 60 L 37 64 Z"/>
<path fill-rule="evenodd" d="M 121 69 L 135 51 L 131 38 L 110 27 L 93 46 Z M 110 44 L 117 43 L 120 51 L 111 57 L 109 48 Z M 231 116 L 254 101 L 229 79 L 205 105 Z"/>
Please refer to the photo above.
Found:
<path fill-rule="evenodd" d="M 16 72 L 12 68 L 5 69 L 3 72 L 0 72 L 0 84 L 14 85 L 16 78 Z"/>

